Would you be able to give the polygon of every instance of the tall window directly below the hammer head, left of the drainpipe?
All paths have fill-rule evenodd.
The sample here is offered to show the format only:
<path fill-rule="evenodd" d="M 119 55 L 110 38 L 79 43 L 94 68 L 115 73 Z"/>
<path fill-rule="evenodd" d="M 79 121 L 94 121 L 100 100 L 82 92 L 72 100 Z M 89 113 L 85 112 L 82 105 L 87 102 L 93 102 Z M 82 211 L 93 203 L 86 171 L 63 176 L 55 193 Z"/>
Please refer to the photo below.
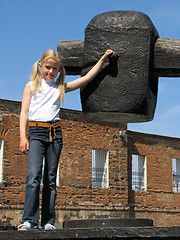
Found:
<path fill-rule="evenodd" d="M 103 149 L 92 149 L 92 187 L 109 187 L 109 152 Z"/>

